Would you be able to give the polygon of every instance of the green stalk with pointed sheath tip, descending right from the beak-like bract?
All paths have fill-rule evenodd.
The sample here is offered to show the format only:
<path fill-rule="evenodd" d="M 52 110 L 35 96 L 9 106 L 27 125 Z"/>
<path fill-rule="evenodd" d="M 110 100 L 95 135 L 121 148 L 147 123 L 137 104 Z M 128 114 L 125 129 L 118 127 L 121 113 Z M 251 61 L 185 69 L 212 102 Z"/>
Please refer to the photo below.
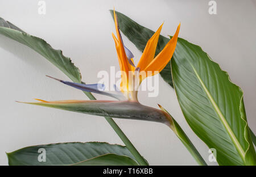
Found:
<path fill-rule="evenodd" d="M 158 105 L 162 111 L 166 112 L 171 119 L 170 128 L 174 131 L 176 136 L 180 139 L 182 144 L 188 149 L 189 153 L 195 158 L 196 162 L 199 165 L 207 166 L 207 163 L 204 161 L 203 157 L 201 157 L 199 151 L 196 150 L 196 147 L 192 144 L 192 142 L 189 140 L 187 134 L 181 129 L 180 125 L 176 122 L 176 120 L 170 115 L 166 109 L 164 109 L 162 106 Z"/>

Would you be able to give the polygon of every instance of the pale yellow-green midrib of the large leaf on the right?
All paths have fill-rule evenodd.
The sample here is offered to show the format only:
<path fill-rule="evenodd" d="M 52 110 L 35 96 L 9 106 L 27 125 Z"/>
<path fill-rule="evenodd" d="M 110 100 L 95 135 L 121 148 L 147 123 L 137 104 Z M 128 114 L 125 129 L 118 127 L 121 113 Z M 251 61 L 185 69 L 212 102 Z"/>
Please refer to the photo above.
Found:
<path fill-rule="evenodd" d="M 229 127 L 228 122 L 226 121 L 224 115 L 222 115 L 222 112 L 220 111 L 220 108 L 218 108 L 217 104 L 214 102 L 214 99 L 212 98 L 212 95 L 210 95 L 210 92 L 208 91 L 207 87 L 204 85 L 204 82 L 201 80 L 199 74 L 197 73 L 195 67 L 189 62 L 189 64 L 191 65 L 193 71 L 196 74 L 197 79 L 199 79 L 199 82 L 201 84 L 201 86 L 204 88 L 205 93 L 207 94 L 210 103 L 212 103 L 214 110 L 216 111 L 218 117 L 220 117 L 220 120 L 222 122 L 222 124 L 224 125 L 226 131 L 229 134 L 229 137 L 231 138 L 231 140 L 233 141 L 234 145 L 236 146 L 236 149 L 238 151 L 238 153 L 240 154 L 240 156 L 242 157 L 243 162 L 245 162 L 245 151 L 243 150 L 240 142 L 237 140 L 235 134 L 233 133 L 232 129 Z"/>

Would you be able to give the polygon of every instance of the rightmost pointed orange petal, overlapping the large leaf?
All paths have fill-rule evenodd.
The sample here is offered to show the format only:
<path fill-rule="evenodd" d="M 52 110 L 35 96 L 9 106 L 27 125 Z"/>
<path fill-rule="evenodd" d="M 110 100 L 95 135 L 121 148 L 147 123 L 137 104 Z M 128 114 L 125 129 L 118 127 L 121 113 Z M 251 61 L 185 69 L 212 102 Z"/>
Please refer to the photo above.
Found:
<path fill-rule="evenodd" d="M 177 27 L 175 35 L 172 37 L 170 41 L 166 44 L 164 49 L 148 64 L 148 66 L 144 69 L 144 71 L 162 71 L 164 67 L 168 64 L 168 62 L 172 58 L 172 54 L 174 54 L 174 50 L 177 44 L 177 36 L 179 35 L 180 24 Z M 154 75 L 154 73 L 152 73 Z M 149 76 L 149 75 L 148 75 Z"/>

